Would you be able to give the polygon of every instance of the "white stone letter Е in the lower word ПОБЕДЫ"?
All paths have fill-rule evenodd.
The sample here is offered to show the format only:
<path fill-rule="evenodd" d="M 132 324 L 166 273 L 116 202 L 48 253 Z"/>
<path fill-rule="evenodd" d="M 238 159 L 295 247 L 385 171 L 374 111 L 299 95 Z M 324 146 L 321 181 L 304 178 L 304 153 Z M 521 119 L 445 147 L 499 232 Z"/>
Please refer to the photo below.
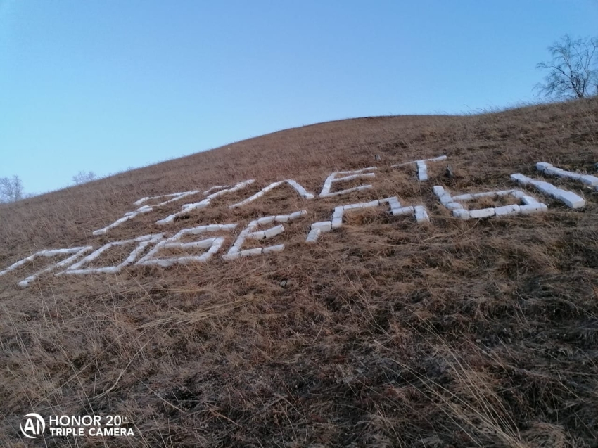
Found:
<path fill-rule="evenodd" d="M 289 215 L 273 215 L 267 217 L 261 217 L 254 219 L 248 224 L 248 226 L 239 233 L 236 241 L 233 243 L 226 255 L 222 255 L 224 260 L 236 260 L 238 257 L 249 257 L 253 255 L 266 254 L 269 252 L 279 252 L 284 249 L 284 244 L 273 245 L 266 248 L 254 248 L 243 250 L 243 244 L 247 238 L 253 239 L 268 239 L 273 236 L 279 235 L 284 232 L 284 226 L 279 224 L 278 226 L 271 227 L 265 231 L 255 231 L 257 226 L 260 224 L 271 224 L 273 222 L 289 222 L 299 217 L 307 215 L 307 210 L 300 210 L 299 212 L 293 212 Z"/>

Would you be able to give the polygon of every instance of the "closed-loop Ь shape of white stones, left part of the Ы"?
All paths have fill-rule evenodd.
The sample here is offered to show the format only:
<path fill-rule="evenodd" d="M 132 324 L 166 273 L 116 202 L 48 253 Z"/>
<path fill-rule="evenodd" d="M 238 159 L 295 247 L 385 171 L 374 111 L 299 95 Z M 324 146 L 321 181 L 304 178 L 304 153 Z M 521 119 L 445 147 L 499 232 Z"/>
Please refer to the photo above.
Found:
<path fill-rule="evenodd" d="M 481 219 L 492 216 L 504 217 L 508 215 L 530 214 L 537 212 L 545 212 L 548 210 L 546 204 L 540 203 L 533 196 L 528 196 L 521 190 L 502 190 L 502 191 L 485 191 L 483 193 L 467 193 L 458 196 L 451 196 L 450 192 L 445 190 L 442 186 L 436 185 L 433 187 L 433 191 L 440 203 L 444 205 L 448 210 L 452 211 L 454 217 L 460 219 Z M 495 198 L 497 196 L 511 195 L 514 198 L 520 200 L 523 205 L 504 205 L 502 207 L 488 207 L 476 210 L 467 210 L 462 204 L 467 200 L 473 200 L 476 198 Z"/>

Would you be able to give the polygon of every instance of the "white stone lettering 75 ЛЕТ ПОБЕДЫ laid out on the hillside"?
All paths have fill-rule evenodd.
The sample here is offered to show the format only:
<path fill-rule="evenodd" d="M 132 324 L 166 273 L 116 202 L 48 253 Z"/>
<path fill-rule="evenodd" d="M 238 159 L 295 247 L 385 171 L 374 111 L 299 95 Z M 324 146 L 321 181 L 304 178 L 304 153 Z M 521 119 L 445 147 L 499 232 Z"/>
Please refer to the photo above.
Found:
<path fill-rule="evenodd" d="M 442 156 L 443 158 L 445 156 Z M 435 158 L 435 159 L 426 159 L 424 161 L 431 161 L 431 160 L 444 160 L 443 158 Z M 413 162 L 408 162 L 413 163 Z M 404 164 L 401 164 L 404 165 Z M 396 166 L 396 165 L 395 165 Z M 575 180 L 582 180 L 577 176 L 582 176 L 581 174 L 569 173 L 565 172 L 561 169 L 556 169 L 556 171 L 551 171 L 550 168 L 552 165 L 549 165 L 545 162 L 538 163 L 538 169 L 545 172 L 545 174 L 554 174 L 559 177 L 566 177 Z M 360 191 L 362 188 L 370 188 L 371 186 L 360 186 L 355 188 L 348 188 L 343 191 L 337 191 L 334 193 L 330 193 L 331 185 L 333 181 L 346 181 L 352 179 L 358 179 L 360 177 L 373 177 L 374 173 L 368 172 L 372 169 L 376 169 L 376 167 L 369 167 L 360 170 L 350 171 L 350 172 L 334 172 L 332 173 L 327 179 L 326 183 L 324 184 L 324 188 L 322 189 L 322 193 L 320 193 L 320 197 L 328 197 L 328 196 L 336 196 L 342 193 L 349 193 L 352 191 Z M 548 171 L 547 171 L 548 170 Z M 566 173 L 566 174 L 564 174 Z M 346 174 L 346 176 L 345 176 Z M 574 174 L 571 176 L 570 174 Z M 337 175 L 342 175 L 343 177 L 336 177 Z M 589 186 L 594 186 L 594 179 L 592 177 L 586 177 L 584 184 Z M 513 181 L 518 182 L 522 186 L 533 186 L 547 196 L 552 196 L 556 200 L 560 200 L 561 202 L 565 203 L 568 207 L 578 208 L 583 207 L 585 205 L 585 200 L 580 196 L 576 195 L 571 191 L 566 191 L 561 188 L 557 188 L 556 186 L 550 184 L 549 182 L 539 181 L 535 179 L 530 179 L 529 177 L 523 176 L 523 174 L 511 174 L 511 179 Z M 598 178 L 597 178 L 598 179 Z M 267 191 L 272 190 L 272 188 L 276 188 L 283 184 L 284 182 L 288 182 L 295 188 L 295 190 L 300 193 L 300 196 L 303 198 L 310 198 L 311 193 L 307 193 L 305 188 L 301 187 L 300 184 L 295 183 L 293 185 L 292 179 L 288 179 L 286 181 L 279 181 L 269 184 L 267 187 L 262 188 L 260 193 L 265 194 Z M 175 214 L 170 215 L 171 217 L 176 217 L 178 215 L 182 215 L 182 213 L 193 210 L 195 208 L 202 208 L 207 206 L 210 203 L 210 200 L 216 198 L 217 196 L 231 193 L 233 191 L 237 191 L 249 184 L 253 183 L 253 179 L 248 181 L 243 181 L 235 186 L 214 186 L 209 188 L 208 190 L 204 191 L 203 194 L 207 196 L 204 200 L 200 203 L 193 203 L 193 204 L 186 204 L 182 206 L 182 211 Z M 300 187 L 300 188 L 298 188 Z M 302 190 L 303 188 L 303 190 Z M 516 214 L 529 214 L 529 213 L 537 213 L 537 212 L 545 212 L 547 211 L 547 205 L 544 203 L 540 203 L 534 196 L 531 196 L 529 193 L 518 189 L 511 189 L 511 190 L 501 190 L 501 191 L 485 191 L 481 193 L 464 193 L 459 194 L 456 196 L 452 196 L 450 191 L 448 191 L 443 186 L 434 186 L 433 191 L 436 196 L 440 199 L 440 203 L 443 204 L 448 210 L 452 212 L 452 215 L 455 217 L 459 217 L 461 219 L 471 219 L 471 218 L 485 218 L 485 217 L 502 217 L 502 216 L 509 216 L 509 215 L 516 215 Z M 136 201 L 135 205 L 141 205 L 146 203 L 148 200 L 156 199 L 156 198 L 168 198 L 167 200 L 163 201 L 158 205 L 164 205 L 166 203 L 170 203 L 174 200 L 180 200 L 186 196 L 190 196 L 191 194 L 196 194 L 198 191 L 186 191 L 182 193 L 172 193 L 169 195 L 163 196 L 155 196 L 152 198 L 142 198 Z M 260 196 L 262 196 L 260 195 Z M 257 193 L 253 196 L 250 196 L 246 200 L 243 200 L 241 203 L 235 204 L 234 206 L 243 205 L 244 203 L 250 202 L 250 200 L 255 200 L 258 197 Z M 313 195 L 311 195 L 313 196 Z M 510 204 L 504 205 L 502 207 L 488 207 L 483 209 L 471 210 L 466 207 L 466 203 L 470 200 L 476 200 L 478 198 L 500 198 L 504 196 L 512 196 L 515 198 L 518 203 L 517 204 Z M 389 198 L 383 198 L 379 200 L 372 200 L 369 202 L 364 203 L 352 203 L 347 205 L 338 205 L 334 207 L 331 219 L 329 221 L 322 221 L 322 222 L 314 222 L 310 226 L 310 230 L 307 233 L 307 243 L 315 243 L 318 241 L 319 237 L 322 233 L 326 233 L 329 231 L 333 231 L 334 229 L 338 229 L 343 225 L 343 216 L 345 212 L 351 212 L 352 210 L 360 210 L 366 209 L 370 207 L 378 207 L 383 204 L 388 205 L 390 207 L 390 213 L 394 217 L 401 216 L 401 215 L 413 215 L 416 219 L 416 222 L 429 222 L 428 212 L 424 205 L 407 205 L 404 206 L 400 203 L 397 196 L 392 196 Z M 142 209 L 147 207 L 151 209 L 152 207 L 148 207 L 147 205 L 140 207 L 136 212 L 144 212 Z M 154 205 L 155 207 L 155 205 Z M 229 206 L 231 207 L 231 206 Z M 284 223 L 293 221 L 294 219 L 298 219 L 299 217 L 303 217 L 307 214 L 306 210 L 301 210 L 298 212 L 291 213 L 289 215 L 272 215 L 268 217 L 261 217 L 259 219 L 254 219 L 251 221 L 246 229 L 243 229 L 241 233 L 239 233 L 238 237 L 234 244 L 229 248 L 227 254 L 223 255 L 222 258 L 224 260 L 234 260 L 238 257 L 247 257 L 253 255 L 264 255 L 269 252 L 279 252 L 284 250 L 284 244 L 278 245 L 270 245 L 267 247 L 259 247 L 259 248 L 249 248 L 243 249 L 243 245 L 246 244 L 248 240 L 267 240 L 269 238 L 273 238 L 274 236 L 281 235 L 286 230 L 284 227 Z M 130 218 L 129 218 L 130 219 Z M 174 220 L 172 218 L 171 220 Z M 165 221 L 165 219 L 161 220 Z M 158 222 L 160 223 L 160 222 Z M 270 227 L 269 229 L 258 230 L 258 226 L 266 225 L 266 224 L 277 224 L 275 226 Z M 101 274 L 101 273 L 116 273 L 122 270 L 124 267 L 129 266 L 131 264 L 136 265 L 158 265 L 162 267 L 167 267 L 172 264 L 186 264 L 190 262 L 207 262 L 210 258 L 215 255 L 224 245 L 224 237 L 222 236 L 215 236 L 214 238 L 205 238 L 201 241 L 192 241 L 189 243 L 183 243 L 181 240 L 184 236 L 190 235 L 201 235 L 206 232 L 215 232 L 215 231 L 233 231 L 236 229 L 238 224 L 208 224 L 204 226 L 193 227 L 190 229 L 182 229 L 174 236 L 170 238 L 166 238 L 163 233 L 159 234 L 151 234 L 146 236 L 140 236 L 137 238 L 132 238 L 125 241 L 113 241 L 110 243 L 106 243 L 105 245 L 101 246 L 91 254 L 83 257 L 81 260 L 76 262 L 80 257 L 82 257 L 85 253 L 93 250 L 92 246 L 85 246 L 85 247 L 76 247 L 76 248 L 61 248 L 61 249 L 52 249 L 52 250 L 41 250 L 39 252 L 34 253 L 28 257 L 25 257 L 23 260 L 19 260 L 11 264 L 9 267 L 0 271 L 0 276 L 4 276 L 10 272 L 16 271 L 20 267 L 25 266 L 25 264 L 33 262 L 37 257 L 56 257 L 59 255 L 70 255 L 69 257 L 65 258 L 60 262 L 53 262 L 49 264 L 46 268 L 42 269 L 41 271 L 37 271 L 35 274 L 27 276 L 26 279 L 23 281 L 18 282 L 19 286 L 26 287 L 29 286 L 32 281 L 37 279 L 38 276 L 41 274 L 47 273 L 49 271 L 56 270 L 57 268 L 65 269 L 64 271 L 59 271 L 55 276 L 63 275 L 63 274 Z M 136 248 L 129 253 L 125 260 L 120 262 L 115 266 L 108 266 L 108 267 L 85 267 L 90 262 L 96 260 L 100 257 L 103 252 L 113 248 L 115 246 L 122 246 L 126 244 L 136 243 Z M 147 254 L 141 257 L 141 255 L 146 252 L 149 246 L 154 245 L 153 248 L 148 250 Z M 205 249 L 201 255 L 182 255 L 179 257 L 160 257 L 160 250 L 167 250 L 167 249 L 179 249 L 179 250 L 196 250 L 196 249 Z M 138 260 L 139 261 L 136 261 Z"/>

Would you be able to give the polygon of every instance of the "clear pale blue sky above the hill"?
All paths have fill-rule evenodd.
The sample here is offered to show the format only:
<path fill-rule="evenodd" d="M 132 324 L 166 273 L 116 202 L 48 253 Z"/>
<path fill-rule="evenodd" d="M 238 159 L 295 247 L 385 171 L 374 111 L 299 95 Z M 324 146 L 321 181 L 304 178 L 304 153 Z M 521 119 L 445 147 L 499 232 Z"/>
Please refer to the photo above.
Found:
<path fill-rule="evenodd" d="M 0 177 L 40 193 L 303 124 L 535 101 L 547 46 L 597 24 L 598 0 L 0 0 Z"/>

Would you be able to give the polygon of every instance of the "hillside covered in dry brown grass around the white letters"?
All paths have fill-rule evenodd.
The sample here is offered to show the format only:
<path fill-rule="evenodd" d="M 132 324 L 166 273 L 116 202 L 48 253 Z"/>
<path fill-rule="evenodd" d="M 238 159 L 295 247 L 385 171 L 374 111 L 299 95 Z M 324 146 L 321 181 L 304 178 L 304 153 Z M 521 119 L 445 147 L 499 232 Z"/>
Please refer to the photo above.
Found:
<path fill-rule="evenodd" d="M 597 99 L 341 120 L 0 205 L 0 269 L 43 249 L 238 223 L 215 233 L 224 246 L 203 264 L 47 273 L 19 288 L 42 257 L 1 276 L 0 445 L 598 447 L 598 193 L 535 169 L 544 161 L 595 173 L 597 121 Z M 414 165 L 391 168 L 443 154 L 428 181 Z M 295 179 L 317 195 L 331 172 L 370 166 L 374 178 L 335 186 L 373 186 L 365 191 L 306 200 L 285 184 L 229 208 L 273 181 Z M 509 179 L 518 172 L 586 206 L 518 187 Z M 255 182 L 168 226 L 155 222 L 203 193 L 92 235 L 140 198 L 246 179 Z M 521 188 L 549 210 L 464 221 L 435 185 Z M 431 222 L 357 210 L 305 243 L 337 205 L 389 196 L 424 205 Z M 262 243 L 284 243 L 282 252 L 222 260 L 251 220 L 298 210 L 307 215 Z M 130 250 L 90 265 L 118 264 Z M 19 425 L 30 412 L 128 415 L 136 436 L 46 430 L 45 441 L 26 440 Z"/>

